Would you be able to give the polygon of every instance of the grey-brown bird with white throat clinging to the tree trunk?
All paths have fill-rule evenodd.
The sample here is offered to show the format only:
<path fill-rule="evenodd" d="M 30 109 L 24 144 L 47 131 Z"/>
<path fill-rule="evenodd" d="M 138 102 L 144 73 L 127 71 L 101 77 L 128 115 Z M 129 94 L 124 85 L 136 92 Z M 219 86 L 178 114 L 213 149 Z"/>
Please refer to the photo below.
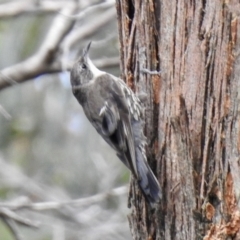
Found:
<path fill-rule="evenodd" d="M 122 79 L 93 64 L 90 46 L 91 42 L 71 69 L 72 93 L 96 131 L 130 169 L 147 203 L 156 206 L 162 191 L 147 162 L 141 101 Z"/>

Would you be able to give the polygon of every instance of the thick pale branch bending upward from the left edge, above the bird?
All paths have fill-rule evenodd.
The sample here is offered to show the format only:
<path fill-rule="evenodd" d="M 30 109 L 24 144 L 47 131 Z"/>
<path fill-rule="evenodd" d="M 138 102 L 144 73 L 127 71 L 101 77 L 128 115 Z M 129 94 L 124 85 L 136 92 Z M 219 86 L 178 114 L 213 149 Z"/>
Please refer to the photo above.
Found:
<path fill-rule="evenodd" d="M 75 4 L 69 4 L 63 10 L 64 14 L 73 14 L 76 11 Z M 57 15 L 39 51 L 27 60 L 14 66 L 3 69 L 0 72 L 0 89 L 14 83 L 22 83 L 46 72 L 52 72 L 51 65 L 54 62 L 59 45 L 65 35 L 71 30 L 74 20 Z"/>

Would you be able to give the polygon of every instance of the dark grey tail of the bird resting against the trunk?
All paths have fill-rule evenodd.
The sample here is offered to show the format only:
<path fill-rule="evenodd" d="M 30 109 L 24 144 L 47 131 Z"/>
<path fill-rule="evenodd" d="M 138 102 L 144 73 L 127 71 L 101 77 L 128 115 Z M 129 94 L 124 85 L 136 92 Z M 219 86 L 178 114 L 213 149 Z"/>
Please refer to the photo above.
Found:
<path fill-rule="evenodd" d="M 159 202 L 159 200 L 162 198 L 161 187 L 148 163 L 145 161 L 144 155 L 140 148 L 137 148 L 136 159 L 139 175 L 139 187 L 142 190 L 146 200 L 153 207 L 154 204 Z"/>

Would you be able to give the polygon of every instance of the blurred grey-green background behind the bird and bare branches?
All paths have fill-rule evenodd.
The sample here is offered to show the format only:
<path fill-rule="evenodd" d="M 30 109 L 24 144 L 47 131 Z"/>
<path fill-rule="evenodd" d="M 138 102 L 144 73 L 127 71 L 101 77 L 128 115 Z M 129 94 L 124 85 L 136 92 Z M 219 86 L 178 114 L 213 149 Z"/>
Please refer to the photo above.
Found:
<path fill-rule="evenodd" d="M 0 69 L 33 55 L 56 14 L 36 12 L 1 18 Z M 74 29 L 81 31 L 89 18 L 97 16 L 98 11 L 91 13 Z M 93 60 L 117 57 L 116 19 L 79 41 L 71 49 L 69 61 L 75 60 L 90 40 Z M 102 70 L 120 75 L 119 66 Z M 69 81 L 69 72 L 62 71 L 13 84 L 0 92 L 1 202 L 24 197 L 33 202 L 66 201 L 128 184 L 129 172 L 90 126 Z M 39 228 L 17 225 L 21 239 L 130 239 L 127 193 L 85 208 L 20 209 L 17 213 L 40 223 Z M 4 221 L 0 221 L 0 239 L 15 239 Z"/>

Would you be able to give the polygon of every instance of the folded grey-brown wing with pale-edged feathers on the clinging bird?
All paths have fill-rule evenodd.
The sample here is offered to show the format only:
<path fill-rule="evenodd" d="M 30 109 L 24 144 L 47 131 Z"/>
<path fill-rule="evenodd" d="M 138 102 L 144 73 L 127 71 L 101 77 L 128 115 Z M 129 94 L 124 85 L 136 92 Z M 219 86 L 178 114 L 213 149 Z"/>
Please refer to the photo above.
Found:
<path fill-rule="evenodd" d="M 131 112 L 127 98 L 121 85 L 110 75 L 104 75 L 104 79 L 102 78 L 99 77 L 96 82 L 104 84 L 105 101 L 99 112 L 101 121 L 95 127 L 98 132 L 101 131 L 105 141 L 117 151 L 119 158 L 138 178 Z"/>

